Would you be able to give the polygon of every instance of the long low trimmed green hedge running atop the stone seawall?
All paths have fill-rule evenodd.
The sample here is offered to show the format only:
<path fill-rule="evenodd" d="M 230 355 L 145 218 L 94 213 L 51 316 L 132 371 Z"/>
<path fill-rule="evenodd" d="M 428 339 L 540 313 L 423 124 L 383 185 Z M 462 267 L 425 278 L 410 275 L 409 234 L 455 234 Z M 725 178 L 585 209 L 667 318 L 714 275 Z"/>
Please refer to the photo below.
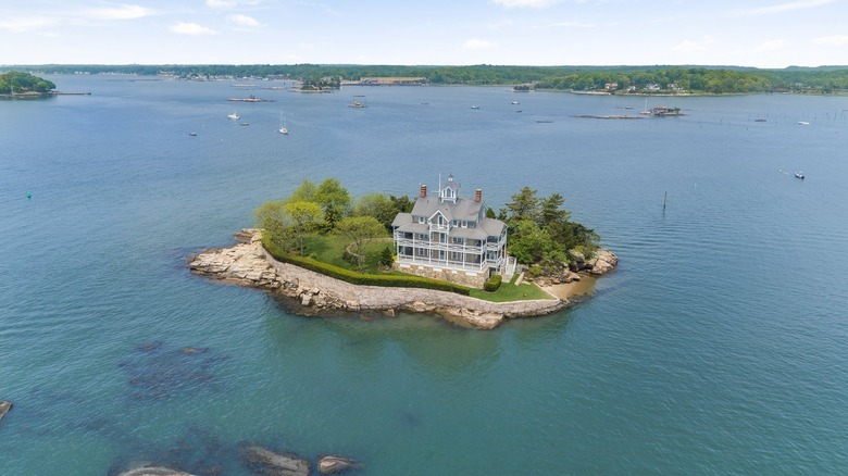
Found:
<path fill-rule="evenodd" d="M 420 276 L 396 276 L 396 275 L 372 275 L 357 273 L 344 267 L 334 266 L 332 264 L 315 261 L 305 256 L 298 256 L 289 254 L 279 249 L 271 240 L 262 237 L 262 245 L 265 247 L 269 253 L 274 256 L 275 260 L 284 263 L 294 264 L 302 268 L 314 271 L 323 275 L 341 279 L 342 281 L 350 283 L 352 285 L 361 286 L 384 286 L 395 288 L 423 288 L 434 289 L 437 291 L 456 292 L 462 296 L 469 296 L 471 290 L 465 286 L 456 285 L 453 283 L 440 281 L 437 279 L 429 279 Z"/>

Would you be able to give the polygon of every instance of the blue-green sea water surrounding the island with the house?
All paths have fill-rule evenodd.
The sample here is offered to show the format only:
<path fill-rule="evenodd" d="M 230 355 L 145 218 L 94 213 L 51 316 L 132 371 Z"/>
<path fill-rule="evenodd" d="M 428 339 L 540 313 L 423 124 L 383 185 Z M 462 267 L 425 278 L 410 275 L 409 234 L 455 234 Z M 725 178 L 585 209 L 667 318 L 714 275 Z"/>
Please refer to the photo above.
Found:
<path fill-rule="evenodd" d="M 50 79 L 91 96 L 0 102 L 0 474 L 248 475 L 246 441 L 369 475 L 848 467 L 848 98 L 610 121 L 575 115 L 644 98 Z M 251 93 L 275 102 L 226 101 Z M 439 174 L 496 210 L 561 193 L 619 270 L 479 331 L 299 317 L 186 267 L 305 178 L 414 196 Z"/>

